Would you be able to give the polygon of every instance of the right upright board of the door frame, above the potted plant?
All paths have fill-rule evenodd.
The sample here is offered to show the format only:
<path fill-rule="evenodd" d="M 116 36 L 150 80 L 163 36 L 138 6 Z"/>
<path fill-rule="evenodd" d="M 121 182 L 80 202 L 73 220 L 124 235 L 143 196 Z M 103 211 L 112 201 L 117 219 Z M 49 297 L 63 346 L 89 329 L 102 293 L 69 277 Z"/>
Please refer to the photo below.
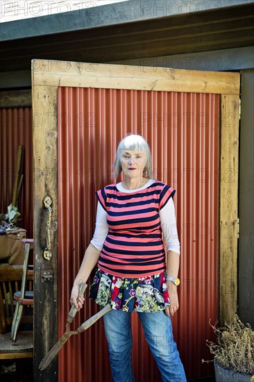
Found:
<path fill-rule="evenodd" d="M 221 96 L 219 321 L 237 313 L 239 96 Z"/>

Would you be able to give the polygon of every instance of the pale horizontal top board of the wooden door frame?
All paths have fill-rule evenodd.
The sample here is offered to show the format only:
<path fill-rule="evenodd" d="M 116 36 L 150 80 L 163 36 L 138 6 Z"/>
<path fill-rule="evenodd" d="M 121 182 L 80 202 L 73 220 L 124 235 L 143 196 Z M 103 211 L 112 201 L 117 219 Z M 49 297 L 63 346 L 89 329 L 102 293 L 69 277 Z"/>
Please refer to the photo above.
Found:
<path fill-rule="evenodd" d="M 239 94 L 239 73 L 33 60 L 36 85 Z"/>

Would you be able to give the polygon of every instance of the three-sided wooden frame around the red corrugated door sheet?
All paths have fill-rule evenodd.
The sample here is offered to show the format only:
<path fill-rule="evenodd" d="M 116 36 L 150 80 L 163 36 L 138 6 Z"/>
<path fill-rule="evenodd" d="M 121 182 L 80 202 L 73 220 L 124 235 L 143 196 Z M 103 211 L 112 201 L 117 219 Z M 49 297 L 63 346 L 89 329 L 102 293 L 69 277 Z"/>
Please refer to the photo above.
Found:
<path fill-rule="evenodd" d="M 240 74 L 126 65 L 32 61 L 34 153 L 34 261 L 36 381 L 58 381 L 57 359 L 44 372 L 42 357 L 58 340 L 58 86 L 221 94 L 219 178 L 219 319 L 237 311 L 237 217 Z M 53 199 L 51 260 L 46 247 L 46 210 Z M 44 281 L 44 274 L 53 279 Z M 46 280 L 46 279 L 45 279 Z M 50 322 L 49 322 L 50 319 Z"/>

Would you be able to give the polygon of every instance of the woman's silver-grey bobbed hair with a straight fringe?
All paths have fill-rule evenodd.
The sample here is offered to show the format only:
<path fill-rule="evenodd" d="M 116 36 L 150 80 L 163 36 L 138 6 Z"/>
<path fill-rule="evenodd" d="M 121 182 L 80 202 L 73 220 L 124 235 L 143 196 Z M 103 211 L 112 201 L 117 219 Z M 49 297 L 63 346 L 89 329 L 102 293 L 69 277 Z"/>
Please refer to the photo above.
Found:
<path fill-rule="evenodd" d="M 115 178 L 121 173 L 121 151 L 122 150 L 140 150 L 146 153 L 146 165 L 144 167 L 143 176 L 146 178 L 153 178 L 152 170 L 152 156 L 149 144 L 141 135 L 127 134 L 124 139 L 121 140 L 117 147 L 117 155 L 115 157 L 114 175 Z"/>

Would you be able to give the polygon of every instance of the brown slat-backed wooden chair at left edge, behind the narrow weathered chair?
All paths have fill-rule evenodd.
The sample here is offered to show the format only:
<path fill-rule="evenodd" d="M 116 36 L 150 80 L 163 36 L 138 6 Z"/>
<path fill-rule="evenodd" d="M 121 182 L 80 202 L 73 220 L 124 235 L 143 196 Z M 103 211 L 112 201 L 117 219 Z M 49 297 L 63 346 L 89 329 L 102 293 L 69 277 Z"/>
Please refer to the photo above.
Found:
<path fill-rule="evenodd" d="M 15 312 L 13 295 L 20 289 L 23 274 L 22 265 L 0 267 L 0 359 L 33 357 L 33 331 L 19 331 L 15 344 L 10 339 Z M 23 315 L 21 322 L 33 322 L 33 316 Z"/>

